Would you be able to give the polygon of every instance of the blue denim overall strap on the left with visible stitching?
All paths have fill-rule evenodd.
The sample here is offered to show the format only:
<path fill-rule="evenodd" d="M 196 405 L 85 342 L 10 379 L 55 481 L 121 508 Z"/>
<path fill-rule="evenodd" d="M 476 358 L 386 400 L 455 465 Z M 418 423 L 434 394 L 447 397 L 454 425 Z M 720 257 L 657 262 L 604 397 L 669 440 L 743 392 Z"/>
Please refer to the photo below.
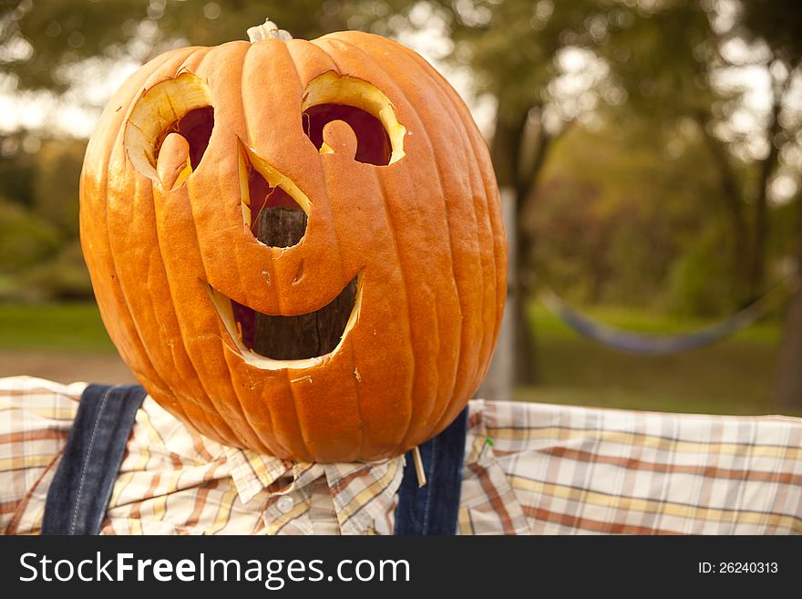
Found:
<path fill-rule="evenodd" d="M 47 491 L 42 534 L 98 534 L 145 389 L 89 385 Z"/>

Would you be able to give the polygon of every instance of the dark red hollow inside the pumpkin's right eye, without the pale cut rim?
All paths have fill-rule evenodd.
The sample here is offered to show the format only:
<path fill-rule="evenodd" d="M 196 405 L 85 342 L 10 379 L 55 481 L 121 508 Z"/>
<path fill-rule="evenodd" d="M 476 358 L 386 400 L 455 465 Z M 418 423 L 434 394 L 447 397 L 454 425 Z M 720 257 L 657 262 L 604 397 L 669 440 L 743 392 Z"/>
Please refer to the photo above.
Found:
<path fill-rule="evenodd" d="M 324 127 L 335 120 L 342 120 L 354 131 L 355 160 L 379 166 L 390 163 L 393 146 L 382 121 L 361 108 L 344 104 L 319 104 L 303 112 L 303 132 L 315 148 L 325 151 Z"/>

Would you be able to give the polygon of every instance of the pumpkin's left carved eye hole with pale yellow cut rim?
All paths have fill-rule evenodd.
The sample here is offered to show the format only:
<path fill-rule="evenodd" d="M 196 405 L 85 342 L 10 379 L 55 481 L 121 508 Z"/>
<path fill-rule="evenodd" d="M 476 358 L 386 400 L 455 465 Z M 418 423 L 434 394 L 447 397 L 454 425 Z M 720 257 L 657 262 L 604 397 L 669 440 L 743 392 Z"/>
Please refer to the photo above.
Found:
<path fill-rule="evenodd" d="M 181 73 L 139 97 L 126 123 L 125 146 L 134 168 L 169 190 L 200 166 L 213 128 L 208 86 Z"/>

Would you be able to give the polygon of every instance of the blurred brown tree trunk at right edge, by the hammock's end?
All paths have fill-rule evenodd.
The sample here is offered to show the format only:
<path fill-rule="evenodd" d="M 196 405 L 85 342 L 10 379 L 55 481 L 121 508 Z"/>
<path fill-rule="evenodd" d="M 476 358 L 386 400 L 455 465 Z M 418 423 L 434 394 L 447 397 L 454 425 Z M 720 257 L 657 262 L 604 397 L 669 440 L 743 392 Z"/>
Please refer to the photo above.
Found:
<path fill-rule="evenodd" d="M 797 278 L 786 316 L 783 345 L 777 362 L 775 403 L 780 411 L 802 410 L 802 198 L 799 203 Z"/>

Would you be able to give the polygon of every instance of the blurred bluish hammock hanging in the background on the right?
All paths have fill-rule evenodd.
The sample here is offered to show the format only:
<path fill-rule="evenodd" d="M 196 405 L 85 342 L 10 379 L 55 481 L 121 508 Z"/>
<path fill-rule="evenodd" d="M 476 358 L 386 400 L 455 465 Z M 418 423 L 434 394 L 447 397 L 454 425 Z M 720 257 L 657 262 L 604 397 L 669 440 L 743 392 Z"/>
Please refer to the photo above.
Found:
<path fill-rule="evenodd" d="M 634 333 L 615 326 L 606 325 L 590 316 L 583 315 L 562 301 L 558 294 L 548 288 L 540 292 L 540 303 L 562 322 L 569 325 L 581 336 L 587 337 L 602 345 L 612 347 L 626 354 L 641 356 L 668 356 L 679 354 L 697 347 L 708 346 L 726 336 L 753 325 L 765 316 L 776 302 L 776 292 L 790 291 L 794 287 L 791 279 L 778 284 L 766 295 L 746 306 L 735 315 L 729 316 L 713 325 L 704 326 L 689 333 L 652 334 Z M 783 294 L 784 295 L 784 294 Z"/>

